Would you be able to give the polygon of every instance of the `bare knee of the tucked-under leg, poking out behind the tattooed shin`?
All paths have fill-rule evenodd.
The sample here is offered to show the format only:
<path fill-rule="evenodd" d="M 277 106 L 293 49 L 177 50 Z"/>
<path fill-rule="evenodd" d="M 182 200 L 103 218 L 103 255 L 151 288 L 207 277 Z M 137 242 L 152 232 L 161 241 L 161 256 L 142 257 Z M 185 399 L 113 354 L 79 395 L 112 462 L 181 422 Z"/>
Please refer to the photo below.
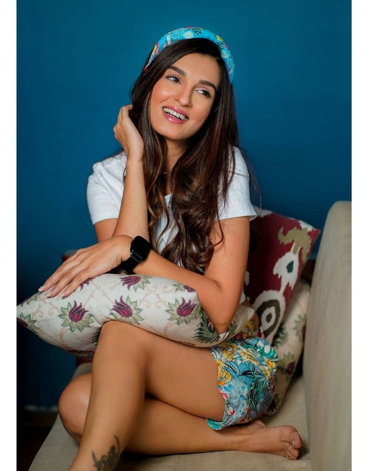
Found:
<path fill-rule="evenodd" d="M 69 432 L 81 435 L 91 390 L 91 373 L 78 376 L 63 390 L 58 402 L 61 422 Z"/>

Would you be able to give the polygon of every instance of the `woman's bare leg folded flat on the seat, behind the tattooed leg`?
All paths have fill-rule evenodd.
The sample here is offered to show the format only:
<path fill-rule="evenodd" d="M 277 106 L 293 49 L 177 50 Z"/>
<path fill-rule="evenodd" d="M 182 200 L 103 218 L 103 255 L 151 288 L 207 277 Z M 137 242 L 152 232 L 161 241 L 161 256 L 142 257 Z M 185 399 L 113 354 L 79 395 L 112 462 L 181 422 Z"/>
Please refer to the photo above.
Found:
<path fill-rule="evenodd" d="M 91 374 L 79 376 L 64 390 L 59 401 L 59 413 L 64 427 L 77 442 L 80 442 L 83 432 L 90 388 Z M 267 436 L 257 434 L 259 429 L 264 428 L 266 425 L 261 420 L 255 420 L 249 424 L 215 431 L 201 417 L 188 414 L 157 399 L 145 397 L 142 415 L 125 451 L 144 455 L 226 450 L 262 453 L 260 445 L 264 442 L 265 453 L 297 459 L 301 442 L 295 443 L 297 448 L 291 444 L 290 435 L 298 435 L 294 427 L 269 427 Z"/>

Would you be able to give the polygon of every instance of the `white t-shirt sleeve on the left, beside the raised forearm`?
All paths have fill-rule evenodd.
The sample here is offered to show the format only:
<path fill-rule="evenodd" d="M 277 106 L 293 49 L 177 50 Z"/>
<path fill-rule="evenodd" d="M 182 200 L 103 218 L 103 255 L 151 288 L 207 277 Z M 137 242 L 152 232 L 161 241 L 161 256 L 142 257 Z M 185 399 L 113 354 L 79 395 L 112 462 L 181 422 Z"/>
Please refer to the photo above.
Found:
<path fill-rule="evenodd" d="M 124 164 L 114 158 L 93 165 L 93 174 L 87 181 L 87 206 L 93 225 L 104 219 L 119 217 L 123 194 L 122 170 Z"/>

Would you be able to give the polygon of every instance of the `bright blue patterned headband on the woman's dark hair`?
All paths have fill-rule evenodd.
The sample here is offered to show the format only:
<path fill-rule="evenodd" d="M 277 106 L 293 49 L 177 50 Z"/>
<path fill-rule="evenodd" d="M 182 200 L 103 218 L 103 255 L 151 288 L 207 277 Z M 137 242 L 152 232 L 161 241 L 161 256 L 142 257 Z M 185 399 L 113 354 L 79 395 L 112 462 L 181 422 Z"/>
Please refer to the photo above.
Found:
<path fill-rule="evenodd" d="M 167 46 L 170 46 L 170 44 L 172 44 L 175 41 L 180 41 L 182 39 L 193 39 L 193 38 L 210 39 L 219 47 L 220 55 L 225 61 L 226 68 L 229 73 L 230 83 L 232 83 L 232 80 L 234 78 L 235 62 L 234 62 L 234 59 L 232 58 L 231 52 L 226 42 L 222 39 L 222 37 L 217 36 L 211 31 L 205 30 L 203 28 L 195 28 L 194 26 L 178 28 L 165 34 L 154 46 L 151 52 L 150 58 L 146 66 L 144 67 L 144 71 L 150 65 L 153 59 L 162 51 L 162 49 L 164 49 Z"/>

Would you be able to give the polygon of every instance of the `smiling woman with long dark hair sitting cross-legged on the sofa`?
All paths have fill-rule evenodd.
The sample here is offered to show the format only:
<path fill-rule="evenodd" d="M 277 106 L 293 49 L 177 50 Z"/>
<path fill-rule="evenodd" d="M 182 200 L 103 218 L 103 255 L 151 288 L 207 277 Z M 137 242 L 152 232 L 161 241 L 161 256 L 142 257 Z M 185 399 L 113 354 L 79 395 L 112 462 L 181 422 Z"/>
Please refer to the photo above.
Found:
<path fill-rule="evenodd" d="M 239 301 L 250 306 L 242 287 L 256 213 L 237 148 L 233 68 L 222 38 L 201 28 L 180 28 L 156 44 L 114 127 L 124 152 L 96 164 L 89 180 L 98 244 L 79 250 L 40 290 L 56 285 L 49 295 L 69 295 L 89 277 L 124 262 L 129 269 L 130 259 L 136 274 L 195 289 L 219 333 Z M 151 247 L 141 262 L 130 258 L 136 236 Z M 272 400 L 276 366 L 257 319 L 212 348 L 107 322 L 92 373 L 59 400 L 65 429 L 80 443 L 70 469 L 113 469 L 123 450 L 297 459 L 294 427 L 256 420 Z"/>

